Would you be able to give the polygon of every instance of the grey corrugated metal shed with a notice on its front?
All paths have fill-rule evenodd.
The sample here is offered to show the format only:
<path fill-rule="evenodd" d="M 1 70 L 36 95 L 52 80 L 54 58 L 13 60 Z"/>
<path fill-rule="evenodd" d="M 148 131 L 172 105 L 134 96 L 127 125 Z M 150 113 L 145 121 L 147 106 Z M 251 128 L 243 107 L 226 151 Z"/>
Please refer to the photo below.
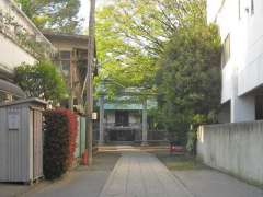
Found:
<path fill-rule="evenodd" d="M 0 104 L 0 182 L 43 176 L 43 111 L 38 99 Z"/>

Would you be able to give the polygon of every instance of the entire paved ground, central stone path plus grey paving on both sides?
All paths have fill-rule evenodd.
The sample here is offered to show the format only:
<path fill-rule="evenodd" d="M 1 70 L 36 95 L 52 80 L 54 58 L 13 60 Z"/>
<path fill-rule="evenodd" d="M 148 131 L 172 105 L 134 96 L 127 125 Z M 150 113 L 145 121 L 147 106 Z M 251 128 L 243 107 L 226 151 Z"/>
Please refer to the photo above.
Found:
<path fill-rule="evenodd" d="M 55 183 L 44 182 L 23 197 L 263 197 L 263 190 L 210 169 L 174 171 L 145 152 L 100 153 Z M 27 186 L 0 184 L 0 197 Z M 15 196 L 20 196 L 18 193 Z"/>

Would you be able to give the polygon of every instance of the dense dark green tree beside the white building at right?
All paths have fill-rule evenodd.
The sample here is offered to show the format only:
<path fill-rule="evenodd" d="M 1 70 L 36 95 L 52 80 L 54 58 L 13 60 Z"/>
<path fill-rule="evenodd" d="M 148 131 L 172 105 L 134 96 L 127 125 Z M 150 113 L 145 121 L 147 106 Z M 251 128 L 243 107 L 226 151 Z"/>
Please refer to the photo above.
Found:
<path fill-rule="evenodd" d="M 158 66 L 158 99 L 165 128 L 186 142 L 190 125 L 215 123 L 220 104 L 220 38 L 215 25 L 174 33 Z"/>

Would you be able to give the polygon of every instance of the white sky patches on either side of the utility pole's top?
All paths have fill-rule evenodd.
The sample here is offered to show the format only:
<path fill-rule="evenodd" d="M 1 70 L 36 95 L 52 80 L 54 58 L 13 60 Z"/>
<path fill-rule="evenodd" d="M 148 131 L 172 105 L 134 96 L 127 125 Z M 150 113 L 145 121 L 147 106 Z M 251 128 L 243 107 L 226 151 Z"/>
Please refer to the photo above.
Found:
<path fill-rule="evenodd" d="M 96 7 L 103 7 L 105 4 L 107 4 L 111 0 L 96 0 Z M 80 0 L 81 2 L 81 8 L 80 8 L 80 12 L 79 12 L 79 18 L 80 19 L 84 19 L 84 23 L 83 23 L 83 27 L 87 28 L 88 27 L 88 22 L 89 22 L 89 2 L 90 0 Z"/>

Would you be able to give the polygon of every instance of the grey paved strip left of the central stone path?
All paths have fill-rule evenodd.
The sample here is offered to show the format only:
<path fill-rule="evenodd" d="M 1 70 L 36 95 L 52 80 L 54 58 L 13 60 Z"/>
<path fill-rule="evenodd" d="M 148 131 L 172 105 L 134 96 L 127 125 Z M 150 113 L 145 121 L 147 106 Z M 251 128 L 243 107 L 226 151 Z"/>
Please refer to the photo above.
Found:
<path fill-rule="evenodd" d="M 64 178 L 36 187 L 22 197 L 98 197 L 114 169 L 118 153 L 100 153 L 93 166 L 79 166 Z"/>

